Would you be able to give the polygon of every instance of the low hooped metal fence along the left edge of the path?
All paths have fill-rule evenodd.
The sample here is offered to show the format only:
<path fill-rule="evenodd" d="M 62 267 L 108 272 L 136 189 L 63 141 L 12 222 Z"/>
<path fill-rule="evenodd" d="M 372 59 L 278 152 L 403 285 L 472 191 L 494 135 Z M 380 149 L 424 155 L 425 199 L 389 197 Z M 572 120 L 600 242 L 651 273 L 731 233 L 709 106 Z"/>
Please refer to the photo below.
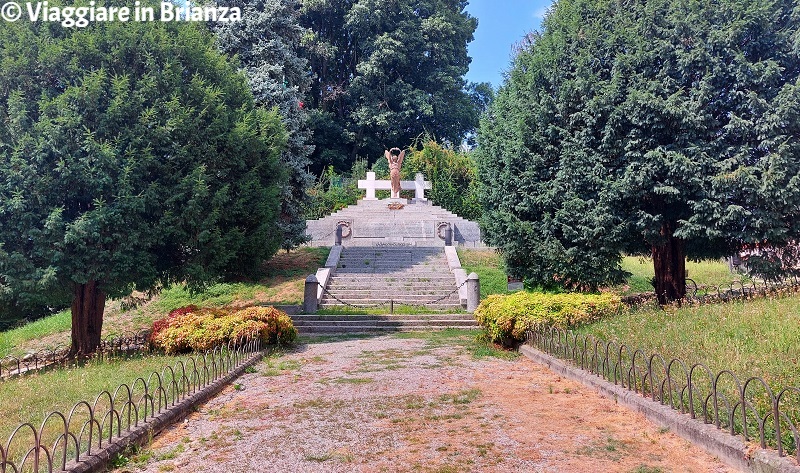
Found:
<path fill-rule="evenodd" d="M 36 427 L 25 423 L 0 444 L 0 473 L 53 472 L 97 455 L 134 429 L 151 422 L 261 351 L 258 339 L 230 344 L 177 361 L 147 379 L 137 378 L 68 413 L 52 412 Z"/>

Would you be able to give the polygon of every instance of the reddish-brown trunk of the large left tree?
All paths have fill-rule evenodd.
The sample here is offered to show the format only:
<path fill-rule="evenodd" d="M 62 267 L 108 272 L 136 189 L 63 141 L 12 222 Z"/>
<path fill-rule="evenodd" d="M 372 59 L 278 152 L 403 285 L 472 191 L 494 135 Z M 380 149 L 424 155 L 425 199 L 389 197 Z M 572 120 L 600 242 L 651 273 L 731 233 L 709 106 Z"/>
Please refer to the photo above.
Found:
<path fill-rule="evenodd" d="M 97 281 L 75 284 L 72 293 L 72 355 L 90 355 L 100 346 L 106 295 Z"/>

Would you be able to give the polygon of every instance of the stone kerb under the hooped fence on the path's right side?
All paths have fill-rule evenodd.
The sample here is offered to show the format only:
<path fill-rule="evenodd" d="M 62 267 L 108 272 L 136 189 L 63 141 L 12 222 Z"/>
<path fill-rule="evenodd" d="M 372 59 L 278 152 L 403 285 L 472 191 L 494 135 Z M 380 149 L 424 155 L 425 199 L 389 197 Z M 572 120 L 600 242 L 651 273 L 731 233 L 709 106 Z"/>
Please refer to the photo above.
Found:
<path fill-rule="evenodd" d="M 672 432 L 716 455 L 733 468 L 754 473 L 800 473 L 800 466 L 788 457 L 779 457 L 771 450 L 748 446 L 742 437 L 732 436 L 717 429 L 713 424 L 704 424 L 692 419 L 669 406 L 646 399 L 638 393 L 612 384 L 529 345 L 521 346 L 519 351 L 551 371 L 591 387 L 602 396 L 643 414 L 648 420 L 668 427 Z"/>

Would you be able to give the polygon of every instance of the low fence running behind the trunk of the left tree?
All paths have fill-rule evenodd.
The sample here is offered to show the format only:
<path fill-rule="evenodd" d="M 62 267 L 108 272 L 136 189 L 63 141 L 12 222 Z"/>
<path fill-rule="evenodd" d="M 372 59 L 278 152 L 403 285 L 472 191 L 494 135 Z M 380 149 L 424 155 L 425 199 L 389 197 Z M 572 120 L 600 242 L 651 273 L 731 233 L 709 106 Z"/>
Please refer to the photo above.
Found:
<path fill-rule="evenodd" d="M 101 356 L 113 356 L 147 350 L 149 334 L 150 330 L 141 330 L 106 337 L 100 342 L 97 352 Z M 0 380 L 52 366 L 63 366 L 70 360 L 68 345 L 45 348 L 22 356 L 8 355 L 0 358 Z"/>

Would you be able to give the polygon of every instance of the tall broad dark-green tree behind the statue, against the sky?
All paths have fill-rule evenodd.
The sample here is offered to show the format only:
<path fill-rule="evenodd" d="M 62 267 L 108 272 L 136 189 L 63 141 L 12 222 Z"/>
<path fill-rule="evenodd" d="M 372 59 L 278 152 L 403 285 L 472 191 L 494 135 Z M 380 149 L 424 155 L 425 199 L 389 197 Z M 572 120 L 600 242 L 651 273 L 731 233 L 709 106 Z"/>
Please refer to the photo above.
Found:
<path fill-rule="evenodd" d="M 304 2 L 314 73 L 314 169 L 348 169 L 425 132 L 459 144 L 477 124 L 465 90 L 477 21 L 464 0 Z"/>

